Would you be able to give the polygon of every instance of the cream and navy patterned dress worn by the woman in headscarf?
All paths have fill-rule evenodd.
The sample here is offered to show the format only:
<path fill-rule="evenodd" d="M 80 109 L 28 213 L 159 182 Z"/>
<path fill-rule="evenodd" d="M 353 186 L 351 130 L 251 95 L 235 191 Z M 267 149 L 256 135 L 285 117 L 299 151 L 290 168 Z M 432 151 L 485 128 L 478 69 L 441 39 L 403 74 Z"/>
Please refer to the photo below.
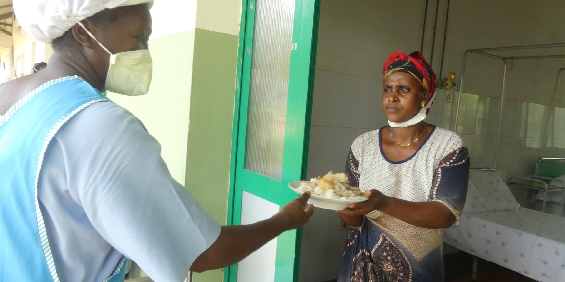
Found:
<path fill-rule="evenodd" d="M 390 161 L 381 149 L 382 129 L 359 136 L 351 146 L 346 173 L 351 186 L 376 189 L 408 201 L 438 201 L 459 223 L 467 195 L 469 156 L 456 133 L 432 133 L 403 161 Z M 351 228 L 338 282 L 444 281 L 443 230 L 417 227 L 372 211 Z"/>

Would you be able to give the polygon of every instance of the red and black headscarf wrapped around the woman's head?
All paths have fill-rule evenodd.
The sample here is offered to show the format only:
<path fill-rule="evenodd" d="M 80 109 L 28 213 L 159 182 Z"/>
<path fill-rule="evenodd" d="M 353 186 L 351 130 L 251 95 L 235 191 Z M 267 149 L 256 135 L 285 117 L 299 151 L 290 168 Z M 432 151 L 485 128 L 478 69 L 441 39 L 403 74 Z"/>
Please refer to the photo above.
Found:
<path fill-rule="evenodd" d="M 406 55 L 404 52 L 396 51 L 390 54 L 383 65 L 383 74 L 388 76 L 394 72 L 410 73 L 420 82 L 424 89 L 430 94 L 430 99 L 436 92 L 436 74 L 432 67 L 425 61 L 424 55 L 419 51 Z M 429 112 L 426 112 L 426 114 Z"/>

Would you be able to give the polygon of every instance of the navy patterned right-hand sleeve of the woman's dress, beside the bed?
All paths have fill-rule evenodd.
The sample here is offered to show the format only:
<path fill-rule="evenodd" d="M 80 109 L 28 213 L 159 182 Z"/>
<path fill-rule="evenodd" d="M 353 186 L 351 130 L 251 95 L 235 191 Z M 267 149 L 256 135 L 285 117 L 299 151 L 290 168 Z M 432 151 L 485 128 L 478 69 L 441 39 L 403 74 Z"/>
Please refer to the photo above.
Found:
<path fill-rule="evenodd" d="M 469 162 L 467 147 L 459 147 L 442 158 L 433 176 L 428 201 L 441 202 L 451 210 L 456 219 L 454 225 L 459 224 L 467 198 Z"/>

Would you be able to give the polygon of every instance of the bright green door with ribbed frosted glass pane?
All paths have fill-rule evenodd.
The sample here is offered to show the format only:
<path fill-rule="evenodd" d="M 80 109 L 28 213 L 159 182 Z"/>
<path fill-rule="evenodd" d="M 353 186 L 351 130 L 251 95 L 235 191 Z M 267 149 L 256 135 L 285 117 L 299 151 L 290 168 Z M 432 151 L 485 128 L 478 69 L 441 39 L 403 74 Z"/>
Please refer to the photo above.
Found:
<path fill-rule="evenodd" d="M 231 224 L 268 218 L 298 196 L 287 184 L 306 173 L 318 30 L 319 0 L 244 2 L 228 211 Z M 257 204 L 245 200 L 257 198 L 270 202 L 266 206 L 277 206 L 276 210 L 254 209 Z M 250 210 L 262 217 L 248 217 Z M 276 245 L 274 276 L 264 274 L 262 279 L 297 281 L 300 235 L 300 230 L 287 231 L 269 243 L 271 248 Z M 252 261 L 270 262 L 272 255 L 262 249 L 227 268 L 225 278 L 258 281 L 249 277 L 247 267 L 253 266 Z"/>

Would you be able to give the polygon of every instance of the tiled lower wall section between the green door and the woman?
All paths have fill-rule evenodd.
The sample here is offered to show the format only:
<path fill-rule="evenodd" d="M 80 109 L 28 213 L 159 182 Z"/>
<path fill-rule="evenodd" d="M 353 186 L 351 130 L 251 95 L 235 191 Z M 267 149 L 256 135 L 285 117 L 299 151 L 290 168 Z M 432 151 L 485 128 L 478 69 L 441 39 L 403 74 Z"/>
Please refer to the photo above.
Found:
<path fill-rule="evenodd" d="M 330 170 L 345 171 L 353 140 L 384 125 L 382 83 L 376 78 L 316 71 L 308 178 Z M 337 278 L 347 238 L 347 231 L 339 227 L 335 211 L 315 209 L 303 229 L 300 282 Z"/>

